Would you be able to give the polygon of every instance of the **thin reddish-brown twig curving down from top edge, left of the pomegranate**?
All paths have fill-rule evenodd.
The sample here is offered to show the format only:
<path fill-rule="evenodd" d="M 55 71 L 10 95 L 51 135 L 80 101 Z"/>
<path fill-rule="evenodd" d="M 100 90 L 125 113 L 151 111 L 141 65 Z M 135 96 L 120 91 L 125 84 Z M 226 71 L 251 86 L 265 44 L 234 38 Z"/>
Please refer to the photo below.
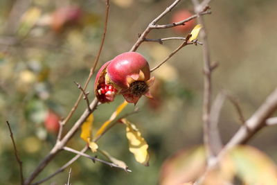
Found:
<path fill-rule="evenodd" d="M 89 77 L 87 78 L 87 81 L 84 84 L 84 91 L 87 89 L 87 86 L 89 85 L 89 81 L 91 80 L 91 77 L 93 76 L 93 73 L 94 73 L 94 71 L 96 69 L 96 66 L 98 64 L 98 60 L 99 60 L 100 54 L 102 52 L 102 47 L 104 46 L 105 37 L 106 37 L 106 33 L 107 33 L 108 18 L 109 18 L 109 0 L 106 0 L 105 25 L 104 25 L 103 35 L 102 35 L 102 39 L 101 39 L 101 44 L 100 44 L 100 48 L 99 48 L 99 51 L 97 53 L 96 59 L 94 60 L 93 67 L 91 68 L 91 70 L 89 72 Z M 81 98 L 82 98 L 82 93 L 80 93 L 80 95 L 79 95 L 78 99 L 76 100 L 74 106 L 72 107 L 71 111 L 69 112 L 69 115 L 66 116 L 66 118 L 64 119 L 62 124 L 65 124 L 69 121 L 69 119 L 71 118 L 71 116 L 75 112 L 75 109 L 77 109 Z"/>

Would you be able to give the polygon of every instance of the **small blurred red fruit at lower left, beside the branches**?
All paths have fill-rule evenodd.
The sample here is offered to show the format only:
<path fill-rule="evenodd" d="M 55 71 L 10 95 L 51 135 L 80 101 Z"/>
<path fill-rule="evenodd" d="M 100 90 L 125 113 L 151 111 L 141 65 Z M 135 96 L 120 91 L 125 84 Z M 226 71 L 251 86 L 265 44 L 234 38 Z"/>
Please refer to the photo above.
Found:
<path fill-rule="evenodd" d="M 46 115 L 44 126 L 46 130 L 51 133 L 57 133 L 60 129 L 60 116 L 58 116 L 55 112 L 48 110 Z"/>

